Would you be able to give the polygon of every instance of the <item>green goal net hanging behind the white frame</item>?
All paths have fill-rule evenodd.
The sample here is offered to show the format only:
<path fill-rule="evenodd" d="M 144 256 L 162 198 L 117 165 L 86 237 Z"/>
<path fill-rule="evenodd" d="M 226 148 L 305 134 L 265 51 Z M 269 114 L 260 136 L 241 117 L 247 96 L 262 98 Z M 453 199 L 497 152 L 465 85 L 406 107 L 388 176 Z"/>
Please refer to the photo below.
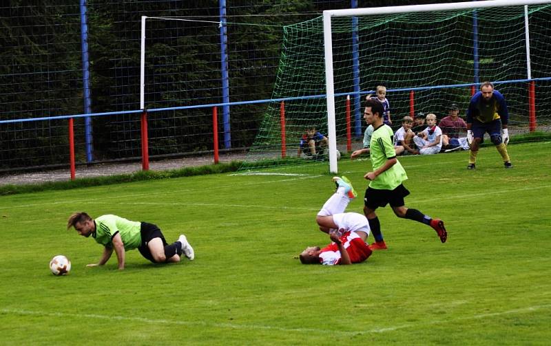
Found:
<path fill-rule="evenodd" d="M 348 12 L 331 18 L 332 64 L 327 69 L 323 17 L 284 27 L 274 101 L 264 113 L 241 169 L 279 169 L 274 164 L 294 164 L 298 171 L 309 167 L 326 172 L 327 156 L 298 158 L 304 131 L 316 127 L 328 136 L 330 153 L 360 149 L 366 127 L 361 101 L 366 94 L 375 94 L 377 85 L 387 88 L 396 130 L 404 116 L 419 112 L 435 113 L 441 119 L 451 103 L 459 106 L 464 117 L 472 92 L 478 89 L 476 83 L 492 81 L 508 102 L 513 139 L 530 140 L 535 138 L 526 136 L 534 131 L 529 107 L 533 83 L 535 130 L 549 131 L 551 6 L 543 2 L 524 1 L 532 4 L 526 7 L 462 9 L 457 7 L 472 3 L 446 4 L 450 8 L 457 5 L 451 10 L 402 6 L 416 10 L 376 15 L 368 15 L 375 9 L 331 11 Z M 425 10 L 418 12 L 420 8 Z M 327 88 L 326 76 L 333 79 Z M 330 171 L 335 173 L 336 155 L 329 158 Z"/>

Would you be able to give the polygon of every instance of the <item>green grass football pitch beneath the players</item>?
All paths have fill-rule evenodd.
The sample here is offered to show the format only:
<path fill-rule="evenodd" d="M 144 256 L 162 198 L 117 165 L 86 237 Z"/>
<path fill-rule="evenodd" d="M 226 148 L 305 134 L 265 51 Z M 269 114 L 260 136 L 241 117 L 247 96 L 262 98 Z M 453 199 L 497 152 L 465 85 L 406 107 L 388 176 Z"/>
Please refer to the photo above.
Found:
<path fill-rule="evenodd" d="M 2 345 L 549 345 L 551 143 L 493 148 L 477 171 L 468 153 L 405 157 L 406 206 L 446 221 L 432 228 L 379 210 L 389 249 L 353 266 L 295 257 L 329 238 L 315 215 L 328 174 L 182 177 L 0 197 Z M 340 161 L 360 197 L 368 160 Z M 288 168 L 289 172 L 296 169 Z M 85 210 L 187 235 L 195 261 L 127 268 L 93 239 L 65 230 Z M 371 241 L 372 239 L 370 239 Z M 72 260 L 67 277 L 48 262 Z"/>

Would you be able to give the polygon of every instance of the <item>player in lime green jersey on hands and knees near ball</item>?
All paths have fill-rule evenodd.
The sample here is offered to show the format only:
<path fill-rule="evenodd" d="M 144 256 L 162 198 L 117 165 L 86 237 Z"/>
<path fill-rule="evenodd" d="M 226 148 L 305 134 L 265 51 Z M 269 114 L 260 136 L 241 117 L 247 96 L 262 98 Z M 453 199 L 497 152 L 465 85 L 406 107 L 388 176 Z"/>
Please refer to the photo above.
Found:
<path fill-rule="evenodd" d="M 153 263 L 179 262 L 182 252 L 193 260 L 194 249 L 187 242 L 185 235 L 168 245 L 163 233 L 154 224 L 129 221 L 116 215 L 101 215 L 95 220 L 87 213 L 73 213 L 67 221 L 67 230 L 74 227 L 79 235 L 94 238 L 104 246 L 103 255 L 98 263 L 87 267 L 103 266 L 115 250 L 118 269 L 125 268 L 125 251 L 138 248 L 140 253 Z"/>

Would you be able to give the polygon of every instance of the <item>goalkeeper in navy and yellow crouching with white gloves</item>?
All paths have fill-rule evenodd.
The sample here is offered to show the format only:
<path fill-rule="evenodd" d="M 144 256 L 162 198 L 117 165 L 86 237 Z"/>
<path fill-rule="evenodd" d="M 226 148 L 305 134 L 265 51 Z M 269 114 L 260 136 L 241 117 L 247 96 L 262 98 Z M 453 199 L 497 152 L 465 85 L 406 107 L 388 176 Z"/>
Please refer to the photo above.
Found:
<path fill-rule="evenodd" d="M 476 168 L 478 149 L 484 142 L 484 133 L 486 132 L 501 154 L 503 166 L 506 169 L 512 168 L 506 147 L 509 142 L 508 120 L 509 112 L 503 95 L 494 90 L 492 83 L 482 83 L 480 91 L 470 99 L 467 109 L 467 141 L 470 146 L 467 169 Z"/>

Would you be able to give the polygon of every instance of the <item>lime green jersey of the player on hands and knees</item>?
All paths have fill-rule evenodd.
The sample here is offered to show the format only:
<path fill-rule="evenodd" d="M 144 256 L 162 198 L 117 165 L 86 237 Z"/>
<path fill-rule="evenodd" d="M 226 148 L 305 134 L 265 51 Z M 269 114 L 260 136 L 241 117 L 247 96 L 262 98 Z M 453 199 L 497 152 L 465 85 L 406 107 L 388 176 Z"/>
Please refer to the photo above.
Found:
<path fill-rule="evenodd" d="M 96 222 L 96 232 L 92 233 L 92 237 L 99 244 L 113 248 L 112 239 L 118 233 L 123 239 L 125 251 L 138 248 L 141 245 L 141 222 L 129 221 L 116 215 L 101 215 L 94 221 Z"/>

